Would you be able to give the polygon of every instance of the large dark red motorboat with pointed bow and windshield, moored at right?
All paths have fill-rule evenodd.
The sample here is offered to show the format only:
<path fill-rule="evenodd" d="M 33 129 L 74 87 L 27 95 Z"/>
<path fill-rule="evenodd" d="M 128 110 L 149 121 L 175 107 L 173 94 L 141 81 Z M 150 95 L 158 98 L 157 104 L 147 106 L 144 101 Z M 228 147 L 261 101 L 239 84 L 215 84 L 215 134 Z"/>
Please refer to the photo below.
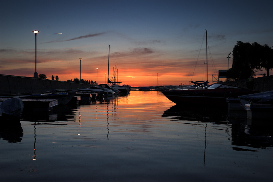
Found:
<path fill-rule="evenodd" d="M 200 89 L 175 89 L 162 93 L 175 104 L 185 106 L 227 106 L 226 98 L 258 93 L 249 89 L 214 83 Z"/>

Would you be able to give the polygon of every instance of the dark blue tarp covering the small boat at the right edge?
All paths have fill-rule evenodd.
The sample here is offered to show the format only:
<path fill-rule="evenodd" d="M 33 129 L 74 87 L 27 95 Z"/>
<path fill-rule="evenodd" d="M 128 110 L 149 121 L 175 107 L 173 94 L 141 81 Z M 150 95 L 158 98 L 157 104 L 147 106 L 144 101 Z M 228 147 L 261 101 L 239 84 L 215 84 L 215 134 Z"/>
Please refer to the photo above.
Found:
<path fill-rule="evenodd" d="M 239 98 L 254 103 L 273 104 L 273 90 L 267 92 L 253 93 L 249 95 L 242 95 L 239 96 Z"/>

